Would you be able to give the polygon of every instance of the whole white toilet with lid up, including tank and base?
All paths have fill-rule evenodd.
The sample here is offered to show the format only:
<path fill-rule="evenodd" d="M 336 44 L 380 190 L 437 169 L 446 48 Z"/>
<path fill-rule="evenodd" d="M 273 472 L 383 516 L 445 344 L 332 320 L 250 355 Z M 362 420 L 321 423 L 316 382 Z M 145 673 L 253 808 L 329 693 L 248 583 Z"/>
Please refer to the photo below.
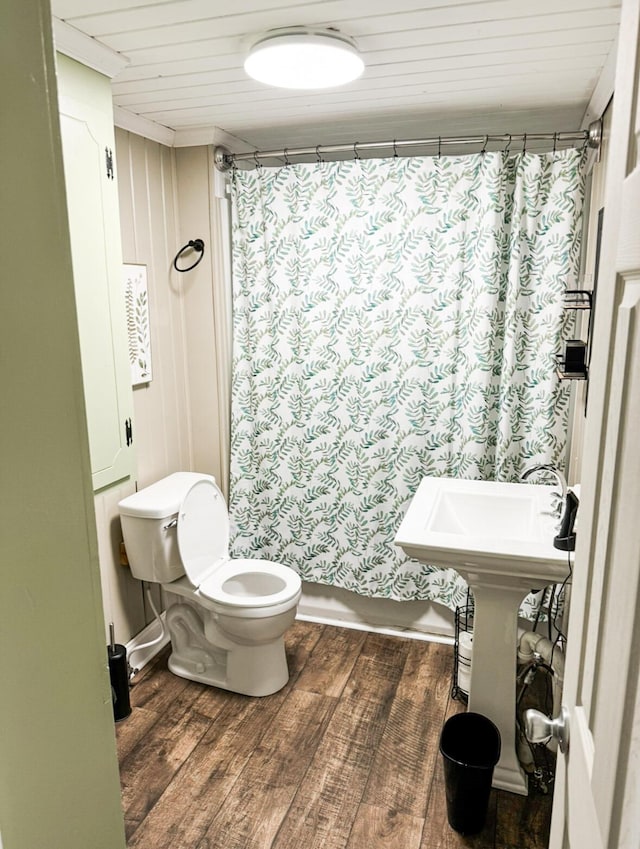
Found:
<path fill-rule="evenodd" d="M 176 472 L 118 507 L 132 575 L 166 595 L 169 669 L 247 696 L 284 687 L 284 633 L 300 577 L 270 560 L 230 558 L 229 514 L 215 479 Z"/>

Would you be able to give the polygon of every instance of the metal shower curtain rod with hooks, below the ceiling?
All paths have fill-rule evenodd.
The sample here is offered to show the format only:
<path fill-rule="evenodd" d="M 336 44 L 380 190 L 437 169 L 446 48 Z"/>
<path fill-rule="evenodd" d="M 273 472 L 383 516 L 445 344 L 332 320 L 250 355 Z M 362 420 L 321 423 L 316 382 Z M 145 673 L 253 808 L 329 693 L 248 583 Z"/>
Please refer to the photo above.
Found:
<path fill-rule="evenodd" d="M 315 147 L 292 147 L 283 148 L 282 150 L 255 150 L 246 153 L 231 153 L 225 147 L 217 146 L 214 149 L 215 166 L 219 171 L 228 171 L 237 162 L 252 161 L 256 165 L 263 159 L 283 159 L 286 164 L 289 164 L 290 157 L 297 156 L 315 156 L 318 161 L 322 161 L 322 155 L 327 153 L 352 153 L 357 159 L 359 153 L 376 150 L 391 150 L 394 155 L 401 148 L 407 147 L 426 147 L 431 146 L 437 149 L 438 154 L 442 147 L 448 145 L 465 145 L 465 144 L 482 144 L 483 150 L 487 145 L 499 144 L 505 145 L 505 150 L 509 149 L 512 143 L 521 143 L 523 150 L 526 150 L 528 142 L 532 141 L 552 141 L 556 144 L 573 143 L 570 146 L 577 147 L 583 143 L 587 147 L 599 148 L 602 139 L 602 122 L 594 121 L 589 125 L 587 130 L 575 130 L 571 132 L 561 133 L 501 133 L 498 135 L 482 135 L 482 136 L 432 136 L 427 139 L 393 139 L 392 141 L 384 142 L 352 142 L 351 144 L 333 144 L 333 145 L 316 145 Z"/>

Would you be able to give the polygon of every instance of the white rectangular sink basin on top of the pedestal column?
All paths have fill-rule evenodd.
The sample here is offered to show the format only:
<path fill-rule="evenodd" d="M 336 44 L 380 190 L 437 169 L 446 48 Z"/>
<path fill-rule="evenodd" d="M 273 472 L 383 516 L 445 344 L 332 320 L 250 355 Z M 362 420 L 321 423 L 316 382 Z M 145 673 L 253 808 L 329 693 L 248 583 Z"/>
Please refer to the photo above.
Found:
<path fill-rule="evenodd" d="M 424 478 L 398 529 L 396 545 L 434 566 L 510 575 L 524 588 L 566 575 L 553 547 L 552 486 Z"/>

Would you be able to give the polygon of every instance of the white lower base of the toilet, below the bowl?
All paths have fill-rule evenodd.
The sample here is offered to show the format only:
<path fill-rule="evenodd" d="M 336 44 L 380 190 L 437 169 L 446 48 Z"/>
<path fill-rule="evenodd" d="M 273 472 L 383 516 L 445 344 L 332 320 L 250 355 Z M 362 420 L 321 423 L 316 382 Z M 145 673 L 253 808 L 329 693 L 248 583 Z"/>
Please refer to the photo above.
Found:
<path fill-rule="evenodd" d="M 208 611 L 205 615 L 213 617 Z M 260 645 L 237 645 L 213 619 L 207 621 L 205 635 L 199 611 L 184 602 L 168 608 L 167 625 L 172 646 L 168 666 L 174 675 L 245 696 L 269 696 L 289 680 L 284 636 Z"/>

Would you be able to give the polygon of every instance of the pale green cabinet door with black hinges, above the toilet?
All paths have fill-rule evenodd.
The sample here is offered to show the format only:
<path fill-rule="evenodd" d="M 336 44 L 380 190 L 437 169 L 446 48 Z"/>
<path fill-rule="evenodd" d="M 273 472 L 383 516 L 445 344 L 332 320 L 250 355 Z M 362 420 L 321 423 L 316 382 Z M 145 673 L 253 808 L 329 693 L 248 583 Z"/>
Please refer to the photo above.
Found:
<path fill-rule="evenodd" d="M 133 397 L 109 79 L 58 55 L 60 127 L 93 488 L 133 472 Z"/>

